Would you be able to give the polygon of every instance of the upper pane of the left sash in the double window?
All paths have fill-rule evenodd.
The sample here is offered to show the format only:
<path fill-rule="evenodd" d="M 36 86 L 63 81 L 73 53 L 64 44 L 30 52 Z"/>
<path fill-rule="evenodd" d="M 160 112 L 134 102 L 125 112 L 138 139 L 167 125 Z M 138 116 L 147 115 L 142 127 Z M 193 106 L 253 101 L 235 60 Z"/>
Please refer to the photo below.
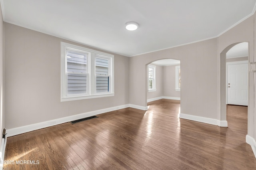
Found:
<path fill-rule="evenodd" d="M 87 55 L 67 51 L 67 71 L 74 73 L 87 73 Z"/>

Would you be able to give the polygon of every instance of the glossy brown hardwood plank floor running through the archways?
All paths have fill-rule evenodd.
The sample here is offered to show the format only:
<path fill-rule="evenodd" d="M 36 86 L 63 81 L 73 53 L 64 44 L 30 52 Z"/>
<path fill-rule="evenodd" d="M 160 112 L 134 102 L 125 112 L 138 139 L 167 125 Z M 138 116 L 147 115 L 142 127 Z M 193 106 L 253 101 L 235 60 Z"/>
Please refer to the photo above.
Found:
<path fill-rule="evenodd" d="M 14 164 L 4 169 L 256 169 L 245 142 L 247 107 L 228 106 L 229 127 L 220 128 L 179 119 L 179 101 L 148 105 L 9 137 L 5 161 Z"/>

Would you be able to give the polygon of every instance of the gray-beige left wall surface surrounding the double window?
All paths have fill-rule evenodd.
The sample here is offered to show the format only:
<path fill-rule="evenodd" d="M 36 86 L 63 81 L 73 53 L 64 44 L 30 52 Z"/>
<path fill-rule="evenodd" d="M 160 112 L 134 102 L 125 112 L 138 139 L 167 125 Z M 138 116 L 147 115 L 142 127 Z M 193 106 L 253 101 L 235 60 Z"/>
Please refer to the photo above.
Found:
<path fill-rule="evenodd" d="M 60 102 L 60 42 L 80 44 L 4 26 L 6 129 L 129 103 L 128 57 L 114 54 L 114 97 Z"/>

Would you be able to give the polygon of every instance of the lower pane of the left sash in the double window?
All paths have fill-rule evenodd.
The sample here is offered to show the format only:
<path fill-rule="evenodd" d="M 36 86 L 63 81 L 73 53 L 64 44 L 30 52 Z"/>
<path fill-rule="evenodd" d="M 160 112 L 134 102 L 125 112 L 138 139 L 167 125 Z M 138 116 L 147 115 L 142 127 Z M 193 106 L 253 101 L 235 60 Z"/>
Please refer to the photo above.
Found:
<path fill-rule="evenodd" d="M 87 87 L 86 74 L 68 74 L 68 95 L 85 94 Z"/>

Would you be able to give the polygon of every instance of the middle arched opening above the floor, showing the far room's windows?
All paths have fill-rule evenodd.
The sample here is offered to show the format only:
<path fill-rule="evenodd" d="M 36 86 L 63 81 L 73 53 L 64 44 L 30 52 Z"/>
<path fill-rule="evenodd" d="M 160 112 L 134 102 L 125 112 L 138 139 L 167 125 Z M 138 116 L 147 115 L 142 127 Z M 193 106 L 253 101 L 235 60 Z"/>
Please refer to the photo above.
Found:
<path fill-rule="evenodd" d="M 181 64 L 176 59 L 160 59 L 146 64 L 147 103 L 159 99 L 181 100 Z"/>

